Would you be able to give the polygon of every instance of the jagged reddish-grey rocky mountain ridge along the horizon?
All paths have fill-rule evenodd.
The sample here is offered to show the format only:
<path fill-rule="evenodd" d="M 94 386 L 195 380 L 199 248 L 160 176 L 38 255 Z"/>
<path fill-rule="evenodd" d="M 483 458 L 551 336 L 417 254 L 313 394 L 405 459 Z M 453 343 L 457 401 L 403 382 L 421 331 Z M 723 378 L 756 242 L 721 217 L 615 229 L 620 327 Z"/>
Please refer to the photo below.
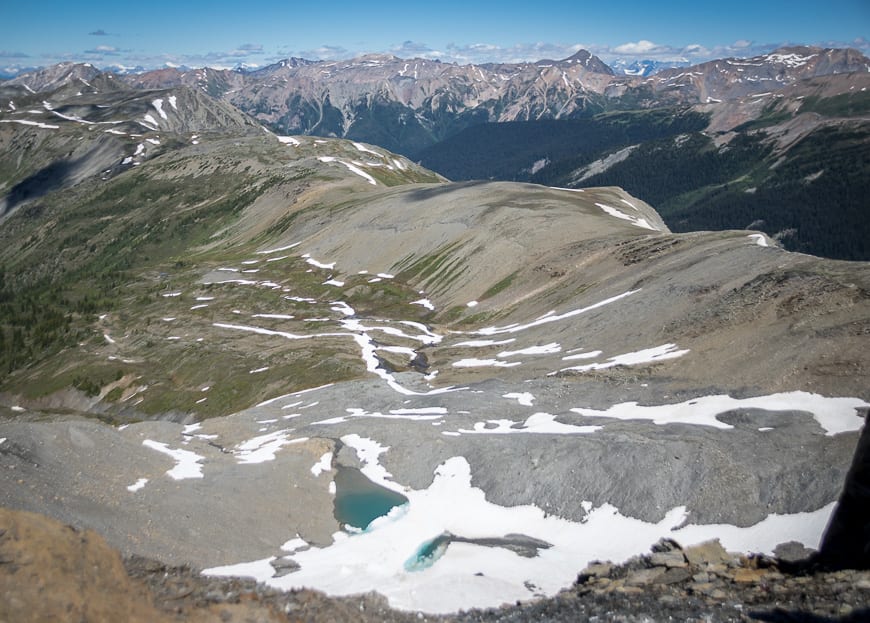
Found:
<path fill-rule="evenodd" d="M 69 80 L 67 64 L 7 85 L 39 91 Z M 93 67 L 75 70 L 93 77 Z M 585 50 L 557 61 L 457 65 L 370 54 L 287 59 L 254 71 L 161 69 L 122 76 L 137 87 L 187 85 L 225 99 L 282 134 L 356 138 L 412 155 L 484 122 L 569 119 L 614 108 L 696 105 L 779 90 L 808 78 L 868 72 L 856 50 L 788 47 L 652 76 L 616 75 Z"/>

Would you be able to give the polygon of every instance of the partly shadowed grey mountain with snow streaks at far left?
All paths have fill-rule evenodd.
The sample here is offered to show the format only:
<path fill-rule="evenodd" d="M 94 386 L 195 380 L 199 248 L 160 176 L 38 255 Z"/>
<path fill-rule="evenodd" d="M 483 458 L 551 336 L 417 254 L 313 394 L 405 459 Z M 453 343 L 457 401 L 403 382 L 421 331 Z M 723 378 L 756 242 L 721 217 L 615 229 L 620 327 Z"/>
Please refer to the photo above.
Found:
<path fill-rule="evenodd" d="M 69 75 L 51 73 L 50 84 Z M 238 110 L 196 90 L 130 89 L 111 74 L 91 80 L 19 94 L 0 111 L 0 218 L 47 192 L 138 166 L 167 143 L 263 132 Z"/>

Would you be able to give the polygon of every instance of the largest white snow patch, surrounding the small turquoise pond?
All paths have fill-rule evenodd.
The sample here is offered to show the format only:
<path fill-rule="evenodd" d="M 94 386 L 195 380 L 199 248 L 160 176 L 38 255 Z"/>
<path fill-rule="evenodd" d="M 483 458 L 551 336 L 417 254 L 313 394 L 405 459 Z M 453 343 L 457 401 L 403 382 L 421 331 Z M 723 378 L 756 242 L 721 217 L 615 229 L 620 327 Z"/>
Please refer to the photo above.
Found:
<path fill-rule="evenodd" d="M 388 450 L 357 435 L 342 437 L 357 450 L 363 473 L 372 481 L 408 498 L 401 512 L 378 519 L 362 533 L 337 533 L 328 547 L 311 547 L 290 557 L 300 565 L 294 573 L 274 577 L 266 558 L 238 565 L 206 569 L 206 575 L 249 576 L 281 590 L 314 588 L 330 595 L 377 591 L 402 610 L 450 613 L 460 609 L 497 607 L 527 600 L 535 594 L 554 595 L 575 581 L 577 572 L 595 559 L 623 561 L 645 552 L 662 537 L 684 546 L 720 537 L 729 550 L 770 551 L 776 544 L 796 540 L 818 543 L 833 504 L 814 513 L 771 515 L 746 528 L 683 524 L 684 507 L 669 510 L 658 523 L 626 517 L 605 504 L 588 504 L 584 521 L 575 523 L 527 505 L 502 507 L 486 500 L 471 483 L 471 466 L 455 456 L 437 467 L 432 484 L 421 490 L 391 480 L 378 462 Z M 466 538 L 522 534 L 551 545 L 530 558 L 500 547 L 450 543 L 431 566 L 409 571 L 406 563 L 431 542 L 450 533 Z M 474 573 L 472 574 L 471 571 Z"/>

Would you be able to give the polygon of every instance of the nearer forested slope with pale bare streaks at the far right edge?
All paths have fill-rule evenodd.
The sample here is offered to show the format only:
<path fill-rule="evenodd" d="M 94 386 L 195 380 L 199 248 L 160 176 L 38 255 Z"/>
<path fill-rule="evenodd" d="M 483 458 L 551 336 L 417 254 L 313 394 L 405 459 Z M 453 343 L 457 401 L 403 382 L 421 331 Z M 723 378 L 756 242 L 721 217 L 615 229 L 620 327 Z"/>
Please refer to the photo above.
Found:
<path fill-rule="evenodd" d="M 699 107 L 704 131 L 578 154 L 532 179 L 622 186 L 676 231 L 758 228 L 791 250 L 867 259 L 868 87 L 868 74 L 813 78 Z"/>

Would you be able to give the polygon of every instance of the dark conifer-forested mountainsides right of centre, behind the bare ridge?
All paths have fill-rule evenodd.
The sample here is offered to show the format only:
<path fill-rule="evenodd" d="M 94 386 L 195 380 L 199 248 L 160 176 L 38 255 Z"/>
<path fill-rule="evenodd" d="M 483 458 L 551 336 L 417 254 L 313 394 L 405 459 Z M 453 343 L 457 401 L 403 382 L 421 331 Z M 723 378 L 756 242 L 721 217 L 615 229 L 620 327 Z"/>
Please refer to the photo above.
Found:
<path fill-rule="evenodd" d="M 676 231 L 760 228 L 802 251 L 867 259 L 870 74 L 773 94 L 589 119 L 485 124 L 421 152 L 455 179 L 616 185 Z"/>

